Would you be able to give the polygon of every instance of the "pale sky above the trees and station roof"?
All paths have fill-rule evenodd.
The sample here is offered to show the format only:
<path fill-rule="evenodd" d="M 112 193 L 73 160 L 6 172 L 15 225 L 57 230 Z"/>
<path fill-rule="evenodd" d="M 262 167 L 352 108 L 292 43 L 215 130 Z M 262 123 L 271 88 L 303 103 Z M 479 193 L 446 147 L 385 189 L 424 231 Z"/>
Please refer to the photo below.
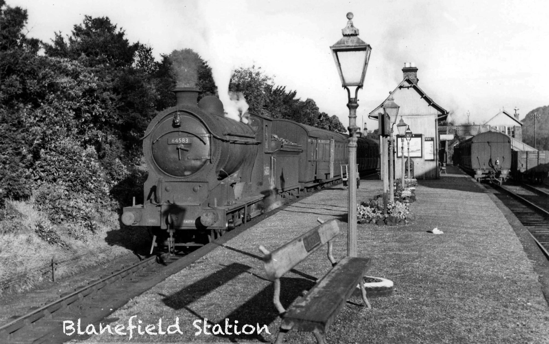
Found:
<path fill-rule="evenodd" d="M 347 126 L 346 91 L 330 45 L 346 13 L 372 55 L 358 91 L 357 124 L 402 81 L 405 62 L 419 87 L 456 123 L 488 121 L 501 110 L 520 119 L 549 105 L 549 3 L 545 0 L 7 0 L 27 9 L 28 35 L 70 35 L 85 15 L 108 16 L 159 58 L 191 48 L 225 84 L 233 68 L 255 65 L 277 85 L 315 100 Z M 228 80 L 228 79 L 227 79 Z M 223 88 L 223 85 L 217 85 Z"/>

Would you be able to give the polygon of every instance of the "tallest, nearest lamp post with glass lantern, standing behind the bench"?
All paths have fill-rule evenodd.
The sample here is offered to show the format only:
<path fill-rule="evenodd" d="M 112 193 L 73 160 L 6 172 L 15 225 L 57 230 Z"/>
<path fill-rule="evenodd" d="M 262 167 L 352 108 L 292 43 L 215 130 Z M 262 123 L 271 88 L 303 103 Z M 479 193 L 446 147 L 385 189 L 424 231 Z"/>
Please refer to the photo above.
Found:
<path fill-rule="evenodd" d="M 336 42 L 330 49 L 334 56 L 335 66 L 341 79 L 341 86 L 347 90 L 349 102 L 349 214 L 348 214 L 348 238 L 347 255 L 356 257 L 357 231 L 356 231 L 356 108 L 358 107 L 358 89 L 364 84 L 366 68 L 372 48 L 369 44 L 358 38 L 358 29 L 352 25 L 352 13 L 347 14 L 347 26 L 341 30 L 343 38 Z M 355 97 L 351 98 L 350 87 L 355 87 Z"/>

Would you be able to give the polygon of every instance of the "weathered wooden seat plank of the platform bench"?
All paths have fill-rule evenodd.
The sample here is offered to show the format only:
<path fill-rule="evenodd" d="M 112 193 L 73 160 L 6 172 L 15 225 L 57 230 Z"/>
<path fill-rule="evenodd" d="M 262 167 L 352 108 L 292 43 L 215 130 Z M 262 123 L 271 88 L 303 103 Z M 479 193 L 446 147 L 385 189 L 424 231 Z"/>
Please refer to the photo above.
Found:
<path fill-rule="evenodd" d="M 325 332 L 371 265 L 369 258 L 345 257 L 284 315 L 281 328 Z"/>

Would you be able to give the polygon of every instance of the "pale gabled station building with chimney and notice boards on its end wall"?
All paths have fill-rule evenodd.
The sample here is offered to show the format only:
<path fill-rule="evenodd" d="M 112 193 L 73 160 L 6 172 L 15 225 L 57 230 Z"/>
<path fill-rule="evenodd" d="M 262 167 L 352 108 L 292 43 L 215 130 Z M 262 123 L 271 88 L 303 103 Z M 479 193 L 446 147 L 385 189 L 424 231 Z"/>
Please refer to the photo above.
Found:
<path fill-rule="evenodd" d="M 407 141 L 404 137 L 398 135 L 396 128 L 400 118 L 404 119 L 404 122 L 410 126 L 413 134 L 410 140 L 412 176 L 416 179 L 438 179 L 440 176 L 438 127 L 448 117 L 448 111 L 436 104 L 432 98 L 419 88 L 417 70 L 414 64 L 406 62 L 404 68 L 402 68 L 404 78 L 389 95 L 393 96 L 394 102 L 400 106 L 397 118 L 391 118 L 390 122 L 394 129 L 393 137 L 396 139 L 394 147 L 395 179 L 402 177 L 401 147 L 403 140 L 405 160 L 408 154 Z M 379 114 L 383 113 L 385 100 L 369 113 L 369 118 L 378 120 Z M 380 149 L 384 149 L 381 146 Z"/>

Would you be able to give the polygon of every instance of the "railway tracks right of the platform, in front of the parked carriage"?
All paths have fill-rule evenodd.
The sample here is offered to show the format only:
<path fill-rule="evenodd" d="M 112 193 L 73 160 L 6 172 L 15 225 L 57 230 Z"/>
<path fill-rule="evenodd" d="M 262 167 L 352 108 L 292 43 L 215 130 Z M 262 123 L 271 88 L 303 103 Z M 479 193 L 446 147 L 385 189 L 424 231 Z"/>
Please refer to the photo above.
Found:
<path fill-rule="evenodd" d="M 523 186 L 486 186 L 512 211 L 549 259 L 549 195 Z"/>

